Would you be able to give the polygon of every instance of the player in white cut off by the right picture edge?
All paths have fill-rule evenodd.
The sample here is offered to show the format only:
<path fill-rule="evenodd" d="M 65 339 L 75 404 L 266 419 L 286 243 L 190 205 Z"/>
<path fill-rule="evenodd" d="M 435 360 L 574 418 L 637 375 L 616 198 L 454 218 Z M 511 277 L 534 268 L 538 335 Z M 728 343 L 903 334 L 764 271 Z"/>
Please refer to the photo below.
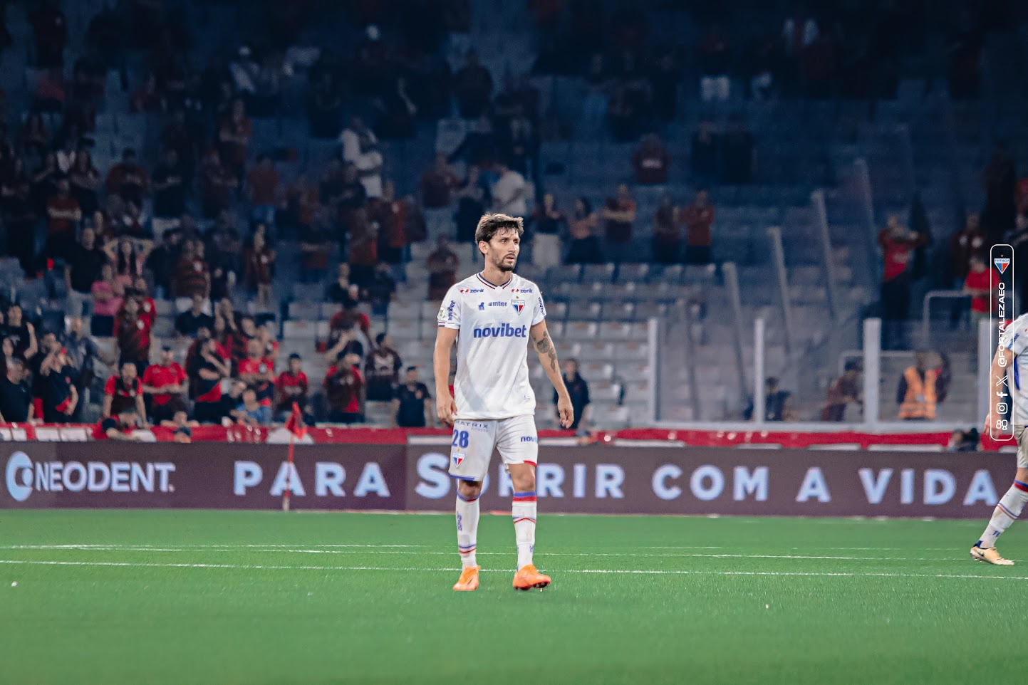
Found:
<path fill-rule="evenodd" d="M 1011 424 L 1018 442 L 1018 472 L 1014 485 L 996 504 L 982 537 L 970 548 L 972 559 L 997 566 L 1014 565 L 996 551 L 996 538 L 1021 516 L 1028 502 L 1028 434 L 1025 433 L 1028 425 L 1028 354 L 1025 350 L 1028 350 L 1028 314 L 1021 314 L 1003 331 L 989 374 L 990 397 L 995 397 L 995 392 L 1004 387 L 1009 393 Z M 1002 429 L 1002 421 L 1003 417 L 996 414 L 996 401 L 991 399 L 985 431 Z"/>

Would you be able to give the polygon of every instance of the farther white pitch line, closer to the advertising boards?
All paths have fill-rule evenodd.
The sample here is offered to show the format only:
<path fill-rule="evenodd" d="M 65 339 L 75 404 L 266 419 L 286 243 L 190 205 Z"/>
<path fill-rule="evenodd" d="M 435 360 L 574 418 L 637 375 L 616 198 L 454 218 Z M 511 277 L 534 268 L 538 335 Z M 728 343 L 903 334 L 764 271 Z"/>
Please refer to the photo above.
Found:
<path fill-rule="evenodd" d="M 371 546 L 371 545 L 368 545 Z M 245 545 L 244 547 L 150 547 L 137 545 L 7 545 L 0 546 L 0 549 L 32 549 L 32 550 L 72 550 L 72 551 L 143 551 L 143 553 L 235 553 L 241 549 L 246 551 L 266 553 L 266 554 L 293 554 L 293 555 L 444 555 L 451 556 L 452 551 L 439 550 L 401 550 L 401 549 L 290 549 L 285 547 L 261 547 L 257 545 Z M 504 556 L 513 553 L 507 551 L 480 551 L 481 556 Z M 710 553 L 624 553 L 624 551 L 562 551 L 554 553 L 553 557 L 645 557 L 645 558 L 667 558 L 667 559 L 786 559 L 798 561 L 844 561 L 844 562 L 943 562 L 949 558 L 910 558 L 910 557 L 837 557 L 819 555 L 732 555 L 732 554 L 710 554 Z M 1018 560 L 1014 560 L 1018 561 Z"/>

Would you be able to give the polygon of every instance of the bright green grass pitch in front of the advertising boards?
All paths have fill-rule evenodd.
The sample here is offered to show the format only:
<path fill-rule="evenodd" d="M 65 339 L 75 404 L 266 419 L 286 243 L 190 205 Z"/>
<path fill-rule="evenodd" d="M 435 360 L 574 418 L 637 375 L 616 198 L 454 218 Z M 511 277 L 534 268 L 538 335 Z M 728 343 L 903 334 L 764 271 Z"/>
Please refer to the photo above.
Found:
<path fill-rule="evenodd" d="M 968 683 L 1021 676 L 1028 527 L 557 517 L 511 587 L 483 516 L 0 512 L 2 683 Z M 13 585 L 16 583 L 16 585 Z"/>

